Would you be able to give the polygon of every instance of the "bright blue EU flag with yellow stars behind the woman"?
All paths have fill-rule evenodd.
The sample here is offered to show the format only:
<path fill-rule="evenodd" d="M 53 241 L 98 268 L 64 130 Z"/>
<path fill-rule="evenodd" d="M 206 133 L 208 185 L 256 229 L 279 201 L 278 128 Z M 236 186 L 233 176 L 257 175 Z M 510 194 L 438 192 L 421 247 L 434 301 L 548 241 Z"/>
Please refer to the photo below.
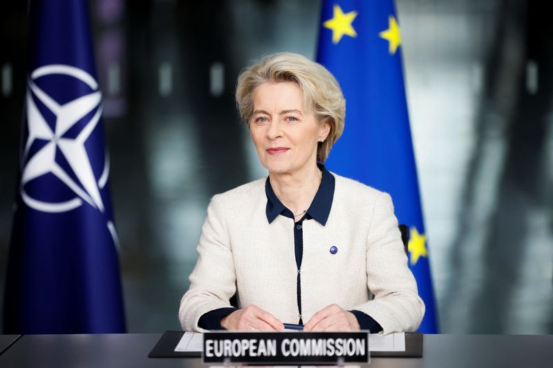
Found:
<path fill-rule="evenodd" d="M 317 61 L 335 75 L 346 97 L 346 128 L 327 166 L 392 196 L 398 220 L 410 229 L 409 267 L 427 308 L 420 331 L 436 333 L 393 1 L 324 1 Z"/>

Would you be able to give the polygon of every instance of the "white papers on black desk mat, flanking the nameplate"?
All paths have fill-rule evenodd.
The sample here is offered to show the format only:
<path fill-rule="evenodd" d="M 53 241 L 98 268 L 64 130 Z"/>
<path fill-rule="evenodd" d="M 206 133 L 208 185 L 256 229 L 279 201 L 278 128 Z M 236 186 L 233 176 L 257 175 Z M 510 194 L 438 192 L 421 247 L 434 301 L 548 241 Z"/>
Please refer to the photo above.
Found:
<path fill-rule="evenodd" d="M 371 334 L 368 336 L 368 348 L 371 351 L 405 351 L 405 333 L 395 332 L 388 335 Z M 203 334 L 185 332 L 175 351 L 202 351 Z"/>

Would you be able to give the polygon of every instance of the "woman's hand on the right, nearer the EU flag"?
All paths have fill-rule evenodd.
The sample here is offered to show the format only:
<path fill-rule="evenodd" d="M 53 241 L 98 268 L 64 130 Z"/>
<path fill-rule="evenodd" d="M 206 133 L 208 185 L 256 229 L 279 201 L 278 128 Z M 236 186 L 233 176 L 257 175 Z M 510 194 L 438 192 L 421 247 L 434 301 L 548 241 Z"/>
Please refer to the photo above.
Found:
<path fill-rule="evenodd" d="M 359 322 L 353 313 L 330 304 L 315 313 L 303 326 L 303 331 L 359 331 Z"/>

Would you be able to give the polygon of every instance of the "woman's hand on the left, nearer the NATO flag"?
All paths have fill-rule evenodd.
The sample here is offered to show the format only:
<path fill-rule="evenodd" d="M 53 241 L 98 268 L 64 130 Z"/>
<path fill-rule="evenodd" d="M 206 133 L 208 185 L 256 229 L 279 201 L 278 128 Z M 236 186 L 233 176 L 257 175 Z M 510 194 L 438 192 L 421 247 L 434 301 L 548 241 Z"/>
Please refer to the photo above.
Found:
<path fill-rule="evenodd" d="M 284 329 L 281 321 L 253 304 L 222 318 L 221 326 L 234 331 L 283 331 Z"/>

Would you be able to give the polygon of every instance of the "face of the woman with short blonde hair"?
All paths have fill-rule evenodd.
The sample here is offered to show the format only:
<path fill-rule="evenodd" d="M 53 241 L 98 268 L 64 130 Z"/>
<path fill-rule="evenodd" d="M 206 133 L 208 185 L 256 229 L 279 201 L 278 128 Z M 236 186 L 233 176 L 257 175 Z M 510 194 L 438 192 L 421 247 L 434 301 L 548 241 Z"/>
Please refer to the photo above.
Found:
<path fill-rule="evenodd" d="M 299 84 L 268 82 L 254 90 L 250 132 L 269 173 L 301 173 L 317 163 L 317 143 L 330 131 L 303 106 Z"/>

